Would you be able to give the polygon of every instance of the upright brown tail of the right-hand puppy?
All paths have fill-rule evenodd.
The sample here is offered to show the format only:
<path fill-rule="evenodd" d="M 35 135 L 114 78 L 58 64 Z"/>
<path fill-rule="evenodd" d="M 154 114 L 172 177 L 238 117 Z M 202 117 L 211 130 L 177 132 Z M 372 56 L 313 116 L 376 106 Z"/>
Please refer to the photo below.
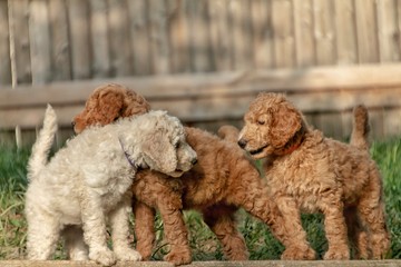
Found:
<path fill-rule="evenodd" d="M 351 134 L 351 146 L 358 147 L 363 150 L 369 150 L 369 113 L 363 105 L 359 105 L 353 110 L 353 127 Z"/>

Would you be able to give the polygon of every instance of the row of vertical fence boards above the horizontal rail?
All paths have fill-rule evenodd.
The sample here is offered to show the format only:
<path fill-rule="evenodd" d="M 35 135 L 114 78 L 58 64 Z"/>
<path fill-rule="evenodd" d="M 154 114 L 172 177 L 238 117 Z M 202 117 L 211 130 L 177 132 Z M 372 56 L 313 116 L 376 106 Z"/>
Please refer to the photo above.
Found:
<path fill-rule="evenodd" d="M 0 0 L 0 83 L 400 61 L 394 0 Z"/>

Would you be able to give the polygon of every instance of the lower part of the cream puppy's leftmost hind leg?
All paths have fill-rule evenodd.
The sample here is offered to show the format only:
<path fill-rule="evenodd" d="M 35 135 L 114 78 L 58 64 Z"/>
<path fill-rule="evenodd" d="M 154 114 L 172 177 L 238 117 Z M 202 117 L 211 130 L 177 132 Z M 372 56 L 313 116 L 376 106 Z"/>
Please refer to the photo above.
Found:
<path fill-rule="evenodd" d="M 51 217 L 40 212 L 31 212 L 28 208 L 28 259 L 46 260 L 55 253 L 60 237 L 60 225 Z"/>

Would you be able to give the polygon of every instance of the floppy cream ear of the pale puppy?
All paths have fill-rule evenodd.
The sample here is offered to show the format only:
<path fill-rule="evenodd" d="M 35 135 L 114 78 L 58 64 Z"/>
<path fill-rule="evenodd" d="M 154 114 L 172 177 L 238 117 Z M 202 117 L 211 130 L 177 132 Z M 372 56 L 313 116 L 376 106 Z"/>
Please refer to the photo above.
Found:
<path fill-rule="evenodd" d="M 164 174 L 173 172 L 177 168 L 176 150 L 169 142 L 166 134 L 156 130 L 150 138 L 143 144 L 141 151 L 146 164 Z"/>

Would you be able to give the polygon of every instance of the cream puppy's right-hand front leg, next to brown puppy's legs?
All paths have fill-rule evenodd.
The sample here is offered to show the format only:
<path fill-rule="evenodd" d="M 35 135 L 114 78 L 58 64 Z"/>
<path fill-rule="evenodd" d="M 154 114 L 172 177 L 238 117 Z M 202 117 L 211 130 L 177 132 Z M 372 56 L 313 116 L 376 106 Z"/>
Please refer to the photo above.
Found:
<path fill-rule="evenodd" d="M 131 191 L 128 191 L 121 202 L 110 212 L 113 248 L 119 260 L 140 260 L 138 251 L 129 247 L 129 210 Z"/>

